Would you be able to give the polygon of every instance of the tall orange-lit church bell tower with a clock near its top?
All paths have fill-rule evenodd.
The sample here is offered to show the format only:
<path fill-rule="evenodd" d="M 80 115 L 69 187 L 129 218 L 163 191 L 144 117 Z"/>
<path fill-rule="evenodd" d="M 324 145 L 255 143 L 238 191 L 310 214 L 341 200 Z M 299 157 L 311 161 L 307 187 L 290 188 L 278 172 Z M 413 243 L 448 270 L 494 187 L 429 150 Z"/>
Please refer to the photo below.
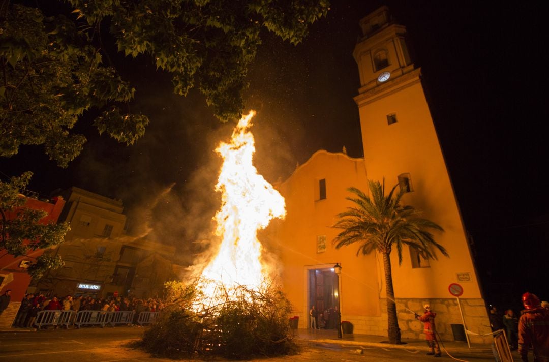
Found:
<path fill-rule="evenodd" d="M 435 232 L 434 238 L 450 254 L 446 258 L 437 253 L 438 260 L 428 260 L 406 247 L 399 266 L 397 253 L 392 253 L 395 297 L 416 300 L 419 304 L 429 299 L 431 303 L 453 305 L 448 288 L 452 283 L 460 283 L 462 298 L 468 299 L 468 305 L 478 306 L 474 313 L 479 318 L 468 320 L 467 327 L 482 328 L 485 303 L 425 99 L 421 69 L 414 66 L 408 54 L 406 27 L 396 24 L 389 9 L 381 7 L 363 18 L 360 28 L 362 37 L 353 55 L 360 73 L 361 87 L 355 102 L 360 115 L 366 176 L 369 180 L 385 180 L 388 190 L 395 185 L 404 190 L 402 203 L 423 211 L 426 219 L 444 228 L 444 232 Z M 441 315 L 439 319 L 442 323 L 451 320 L 449 315 Z"/>

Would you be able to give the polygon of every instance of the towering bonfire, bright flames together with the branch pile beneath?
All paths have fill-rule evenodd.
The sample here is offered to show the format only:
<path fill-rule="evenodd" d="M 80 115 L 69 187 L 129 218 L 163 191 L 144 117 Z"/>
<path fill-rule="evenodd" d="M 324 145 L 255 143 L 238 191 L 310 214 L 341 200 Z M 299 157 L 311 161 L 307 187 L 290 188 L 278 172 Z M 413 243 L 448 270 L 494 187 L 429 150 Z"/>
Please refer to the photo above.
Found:
<path fill-rule="evenodd" d="M 223 158 L 215 187 L 221 192 L 219 249 L 192 283 L 167 284 L 171 304 L 143 337 L 149 352 L 243 359 L 295 350 L 290 304 L 273 283 L 275 269 L 257 239 L 273 218 L 284 218 L 285 205 L 253 165 L 254 115 L 240 119 L 231 140 L 216 149 Z"/>

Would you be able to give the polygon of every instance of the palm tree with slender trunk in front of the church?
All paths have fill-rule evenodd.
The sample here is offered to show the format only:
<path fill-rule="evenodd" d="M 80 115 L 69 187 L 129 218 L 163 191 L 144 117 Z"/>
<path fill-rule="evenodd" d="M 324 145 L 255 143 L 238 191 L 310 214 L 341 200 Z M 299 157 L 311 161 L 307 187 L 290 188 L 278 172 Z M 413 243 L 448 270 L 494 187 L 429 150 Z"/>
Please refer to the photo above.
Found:
<path fill-rule="evenodd" d="M 399 265 L 402 263 L 402 247 L 408 245 L 416 249 L 423 258 L 436 259 L 435 249 L 446 257 L 446 249 L 438 244 L 427 229 L 444 231 L 433 221 L 421 218 L 418 210 L 411 206 L 400 204 L 405 193 L 401 190 L 395 194 L 393 187 L 385 196 L 385 180 L 383 185 L 379 181 L 368 180 L 372 194 L 367 196 L 356 187 L 348 188 L 356 197 L 348 197 L 355 205 L 339 213 L 339 220 L 334 226 L 341 232 L 334 238 L 333 244 L 337 249 L 350 244 L 360 246 L 357 255 L 363 255 L 376 250 L 383 255 L 385 271 L 385 289 L 387 297 L 388 335 L 389 343 L 400 344 L 400 328 L 396 318 L 395 294 L 393 291 L 393 275 L 391 274 L 391 250 L 396 247 L 399 255 Z"/>

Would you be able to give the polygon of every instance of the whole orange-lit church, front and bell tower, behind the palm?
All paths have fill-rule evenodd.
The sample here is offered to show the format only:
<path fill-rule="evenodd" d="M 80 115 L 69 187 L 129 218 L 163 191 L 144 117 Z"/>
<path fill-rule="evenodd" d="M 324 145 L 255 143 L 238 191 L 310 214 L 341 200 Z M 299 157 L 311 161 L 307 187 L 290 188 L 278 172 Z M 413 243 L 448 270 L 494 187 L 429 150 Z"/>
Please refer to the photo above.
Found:
<path fill-rule="evenodd" d="M 357 255 L 358 245 L 335 249 L 336 215 L 351 206 L 346 191 L 368 192 L 367 180 L 385 181 L 407 191 L 402 203 L 422 210 L 444 228 L 435 240 L 446 248 L 437 260 L 413 250 L 401 265 L 391 254 L 393 285 L 402 337 L 421 338 L 423 326 L 413 313 L 430 303 L 442 340 L 470 342 L 491 338 L 487 310 L 471 257 L 466 231 L 421 83 L 421 69 L 408 54 L 406 28 L 395 24 L 386 7 L 360 21 L 363 32 L 354 57 L 361 88 L 355 102 L 360 114 L 364 158 L 318 151 L 277 185 L 287 202 L 287 217 L 270 233 L 283 269 L 283 289 L 309 324 L 312 305 L 340 310 L 354 333 L 387 335 L 385 282 L 381 255 Z M 334 266 L 341 266 L 339 275 Z M 462 319 L 463 315 L 463 319 Z M 464 328 L 463 321 L 465 322 Z"/>

